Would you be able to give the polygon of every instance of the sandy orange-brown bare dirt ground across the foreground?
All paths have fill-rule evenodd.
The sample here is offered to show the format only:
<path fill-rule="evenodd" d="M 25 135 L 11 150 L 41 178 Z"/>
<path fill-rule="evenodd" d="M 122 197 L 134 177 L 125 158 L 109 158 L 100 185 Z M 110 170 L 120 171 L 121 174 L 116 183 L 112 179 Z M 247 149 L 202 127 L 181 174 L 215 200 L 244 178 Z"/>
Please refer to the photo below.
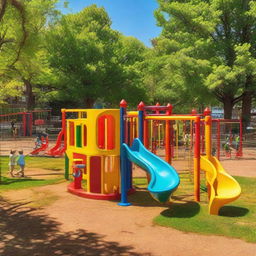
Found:
<path fill-rule="evenodd" d="M 256 177 L 254 158 L 222 163 L 232 175 Z M 26 170 L 33 178 L 50 173 Z M 140 175 L 145 174 L 136 169 L 136 176 Z M 64 182 L 2 195 L 1 256 L 256 256 L 256 244 L 155 226 L 152 219 L 166 214 L 171 204 L 150 200 L 144 190 L 130 197 L 132 206 L 120 207 L 117 202 L 76 197 L 66 192 L 66 186 Z M 147 203 L 141 198 L 147 198 Z"/>

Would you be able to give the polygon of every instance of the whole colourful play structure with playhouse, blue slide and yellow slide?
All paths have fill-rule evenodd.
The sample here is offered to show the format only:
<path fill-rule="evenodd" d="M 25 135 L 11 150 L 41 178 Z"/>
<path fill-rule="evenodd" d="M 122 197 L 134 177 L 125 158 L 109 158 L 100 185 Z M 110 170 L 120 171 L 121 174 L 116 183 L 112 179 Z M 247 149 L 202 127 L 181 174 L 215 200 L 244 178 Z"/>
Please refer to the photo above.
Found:
<path fill-rule="evenodd" d="M 71 118 L 67 118 L 67 113 L 72 114 Z M 138 111 L 128 112 L 124 100 L 120 109 L 62 109 L 59 136 L 64 140 L 65 177 L 73 176 L 68 191 L 91 199 L 118 200 L 121 197 L 120 205 L 130 205 L 127 194 L 134 191 L 132 163 L 135 163 L 149 174 L 148 190 L 153 198 L 159 202 L 169 201 L 180 183 L 178 173 L 171 166 L 174 149 L 171 142 L 177 134 L 175 122 L 189 122 L 194 198 L 200 201 L 200 171 L 204 171 L 209 213 L 218 214 L 223 205 L 239 197 L 241 188 L 212 155 L 210 114 L 206 109 L 204 116 L 174 115 L 170 104 L 145 106 L 143 102 L 138 105 Z M 149 140 L 153 138 L 153 122 L 161 127 L 158 128 L 161 131 L 158 144 L 163 147 L 165 160 L 154 154 L 155 145 Z M 202 143 L 205 153 L 201 151 Z"/>

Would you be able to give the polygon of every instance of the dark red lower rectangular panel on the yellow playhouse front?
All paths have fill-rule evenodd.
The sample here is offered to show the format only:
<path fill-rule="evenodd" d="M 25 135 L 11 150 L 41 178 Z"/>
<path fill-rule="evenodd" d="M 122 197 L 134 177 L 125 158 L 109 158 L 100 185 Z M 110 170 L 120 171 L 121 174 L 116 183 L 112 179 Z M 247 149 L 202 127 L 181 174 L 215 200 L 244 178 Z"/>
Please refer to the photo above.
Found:
<path fill-rule="evenodd" d="M 90 188 L 91 193 L 101 193 L 101 157 L 90 158 Z"/>

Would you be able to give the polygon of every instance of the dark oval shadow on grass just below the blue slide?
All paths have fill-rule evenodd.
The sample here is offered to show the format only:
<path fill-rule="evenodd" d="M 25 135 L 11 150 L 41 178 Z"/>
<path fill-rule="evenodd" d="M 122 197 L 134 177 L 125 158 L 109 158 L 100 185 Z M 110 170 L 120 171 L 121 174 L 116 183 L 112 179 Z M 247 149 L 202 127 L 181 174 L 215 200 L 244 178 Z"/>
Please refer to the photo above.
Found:
<path fill-rule="evenodd" d="M 167 218 L 191 218 L 200 211 L 200 205 L 193 201 L 184 201 L 182 203 L 172 203 L 171 207 L 161 212 L 161 215 Z"/>

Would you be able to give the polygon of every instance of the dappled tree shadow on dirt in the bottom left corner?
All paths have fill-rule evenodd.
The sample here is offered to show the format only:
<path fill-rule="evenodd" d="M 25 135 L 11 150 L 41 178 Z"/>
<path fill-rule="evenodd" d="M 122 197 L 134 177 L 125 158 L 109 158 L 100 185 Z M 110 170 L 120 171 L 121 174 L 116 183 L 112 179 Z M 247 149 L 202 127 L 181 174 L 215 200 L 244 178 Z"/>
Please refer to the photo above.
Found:
<path fill-rule="evenodd" d="M 60 223 L 47 215 L 24 203 L 11 204 L 2 198 L 0 237 L 1 256 L 151 255 L 136 253 L 131 246 L 104 241 L 104 236 L 86 230 L 61 232 Z"/>

